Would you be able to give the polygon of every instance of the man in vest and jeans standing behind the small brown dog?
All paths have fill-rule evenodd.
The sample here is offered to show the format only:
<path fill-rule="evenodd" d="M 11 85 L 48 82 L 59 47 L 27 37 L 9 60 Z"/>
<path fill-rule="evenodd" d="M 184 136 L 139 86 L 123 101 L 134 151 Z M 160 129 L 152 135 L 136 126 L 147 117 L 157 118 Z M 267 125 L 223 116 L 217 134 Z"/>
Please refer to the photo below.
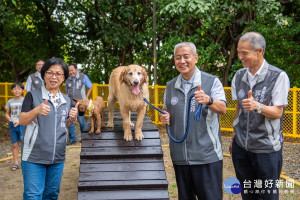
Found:
<path fill-rule="evenodd" d="M 66 92 L 68 97 L 71 99 L 71 105 L 75 106 L 76 102 L 73 99 L 88 99 L 92 91 L 92 82 L 89 77 L 83 73 L 78 72 L 76 64 L 70 64 L 69 68 L 69 78 L 66 80 Z M 85 88 L 88 88 L 87 93 L 85 93 Z M 84 115 L 77 116 L 80 131 L 82 133 L 84 126 L 86 124 Z M 77 138 L 75 134 L 75 123 L 69 127 L 69 142 L 68 145 L 76 144 Z"/>

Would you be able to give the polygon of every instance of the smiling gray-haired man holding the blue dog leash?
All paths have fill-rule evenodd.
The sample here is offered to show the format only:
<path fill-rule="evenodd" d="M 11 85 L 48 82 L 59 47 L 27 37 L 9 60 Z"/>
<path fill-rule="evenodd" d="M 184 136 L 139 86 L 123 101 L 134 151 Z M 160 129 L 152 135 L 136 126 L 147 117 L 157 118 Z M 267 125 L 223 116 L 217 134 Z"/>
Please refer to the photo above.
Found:
<path fill-rule="evenodd" d="M 186 140 L 182 143 L 170 140 L 178 197 L 221 200 L 223 154 L 219 114 L 226 113 L 223 86 L 217 77 L 196 67 L 198 54 L 193 43 L 177 44 L 174 61 L 180 75 L 167 83 L 162 124 L 170 123 L 171 135 L 180 139 L 186 131 L 187 99 L 195 94 L 190 104 L 191 116 L 202 106 L 200 121 L 190 120 Z"/>

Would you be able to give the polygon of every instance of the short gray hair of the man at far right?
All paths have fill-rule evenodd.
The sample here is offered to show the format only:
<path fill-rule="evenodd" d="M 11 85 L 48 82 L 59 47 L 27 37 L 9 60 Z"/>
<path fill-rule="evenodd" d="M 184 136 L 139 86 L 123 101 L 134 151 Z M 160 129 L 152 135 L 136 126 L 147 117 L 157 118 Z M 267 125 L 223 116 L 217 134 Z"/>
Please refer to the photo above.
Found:
<path fill-rule="evenodd" d="M 264 36 L 262 36 L 258 32 L 247 32 L 240 37 L 239 41 L 250 41 L 253 50 L 258 50 L 259 48 L 263 49 L 263 55 L 266 50 L 266 40 Z"/>

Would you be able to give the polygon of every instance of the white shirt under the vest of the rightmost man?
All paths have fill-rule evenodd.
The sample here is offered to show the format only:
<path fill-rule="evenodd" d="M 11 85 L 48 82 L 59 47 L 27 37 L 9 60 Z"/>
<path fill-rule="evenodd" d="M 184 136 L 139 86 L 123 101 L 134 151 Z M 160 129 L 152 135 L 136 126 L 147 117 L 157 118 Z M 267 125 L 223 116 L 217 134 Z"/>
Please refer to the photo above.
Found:
<path fill-rule="evenodd" d="M 249 68 L 247 68 L 248 81 L 251 89 L 257 82 L 258 76 L 261 74 L 263 67 L 266 67 L 265 64 L 267 64 L 266 60 L 264 60 L 262 66 L 258 69 L 258 71 L 254 75 L 252 75 Z M 236 89 L 235 89 L 235 78 L 236 75 L 234 75 L 231 84 L 232 100 L 237 100 Z M 272 100 L 271 100 L 272 105 L 286 106 L 288 104 L 287 97 L 288 97 L 289 90 L 290 90 L 289 77 L 285 72 L 281 72 L 276 80 L 276 83 L 272 91 Z"/>

